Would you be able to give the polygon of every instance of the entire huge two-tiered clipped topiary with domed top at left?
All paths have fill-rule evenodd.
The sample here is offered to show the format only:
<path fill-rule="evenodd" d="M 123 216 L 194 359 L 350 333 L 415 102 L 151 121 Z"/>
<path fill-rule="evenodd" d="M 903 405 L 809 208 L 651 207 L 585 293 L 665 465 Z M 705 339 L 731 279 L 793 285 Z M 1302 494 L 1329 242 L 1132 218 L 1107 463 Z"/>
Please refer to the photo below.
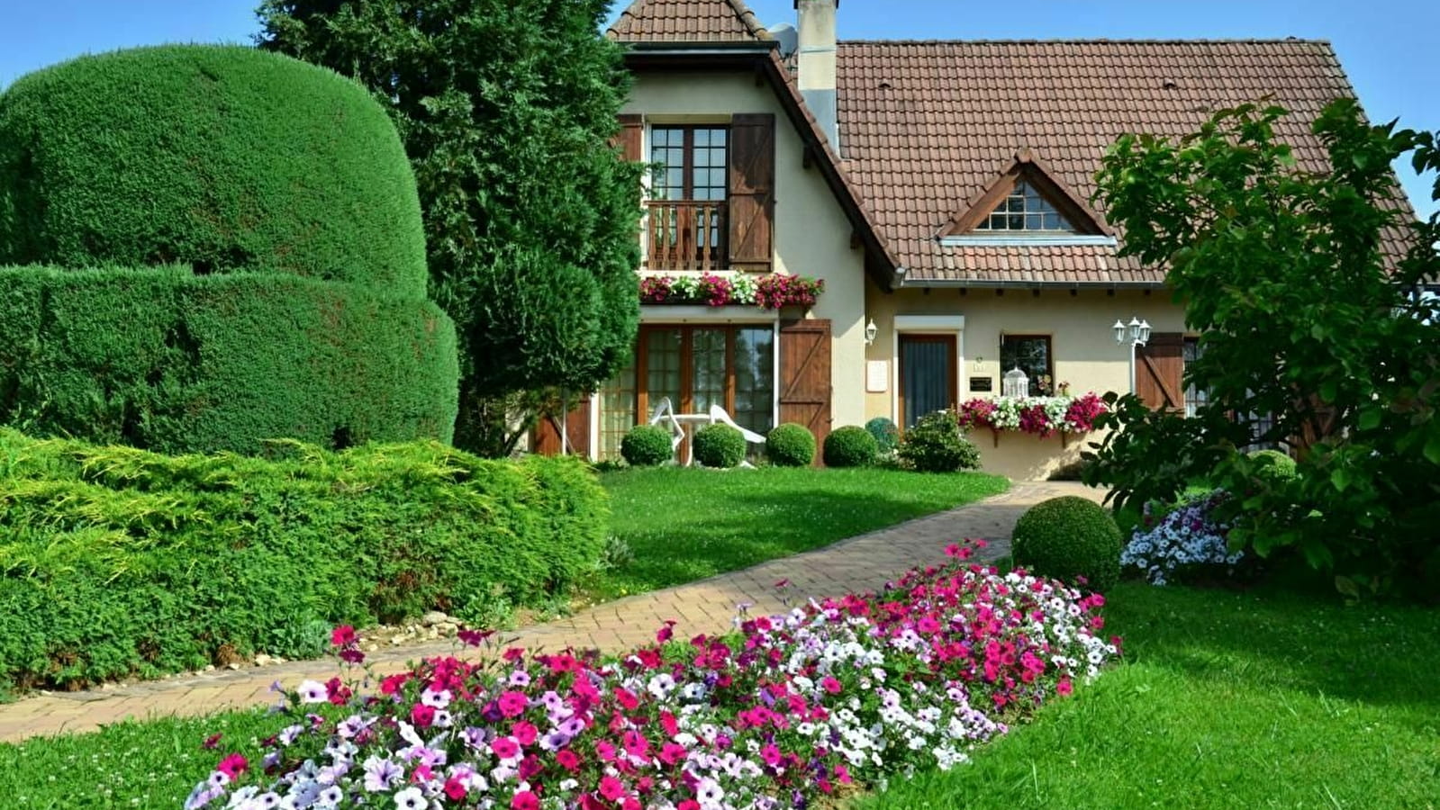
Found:
<path fill-rule="evenodd" d="M 0 423 L 168 453 L 454 436 L 409 161 L 340 75 L 86 56 L 0 95 Z M 108 269 L 94 269 L 108 268 Z"/>

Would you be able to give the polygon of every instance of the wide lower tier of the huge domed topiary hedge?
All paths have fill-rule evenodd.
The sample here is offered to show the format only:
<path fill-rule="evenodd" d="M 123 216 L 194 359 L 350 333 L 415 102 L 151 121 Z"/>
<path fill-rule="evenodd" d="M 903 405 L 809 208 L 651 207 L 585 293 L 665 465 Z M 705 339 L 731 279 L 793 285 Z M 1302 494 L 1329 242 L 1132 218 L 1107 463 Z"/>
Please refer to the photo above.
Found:
<path fill-rule="evenodd" d="M 426 301 L 183 268 L 0 269 L 0 423 L 166 453 L 452 436 L 455 329 Z"/>

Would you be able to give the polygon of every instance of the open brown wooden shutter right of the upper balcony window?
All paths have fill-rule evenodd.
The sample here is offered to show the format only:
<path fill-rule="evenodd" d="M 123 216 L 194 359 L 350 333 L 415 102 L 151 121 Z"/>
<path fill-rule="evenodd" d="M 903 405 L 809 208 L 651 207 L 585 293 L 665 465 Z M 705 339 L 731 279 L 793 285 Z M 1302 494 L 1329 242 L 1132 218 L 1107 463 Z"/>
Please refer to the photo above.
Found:
<path fill-rule="evenodd" d="M 775 115 L 730 119 L 730 266 L 769 270 L 775 235 Z"/>

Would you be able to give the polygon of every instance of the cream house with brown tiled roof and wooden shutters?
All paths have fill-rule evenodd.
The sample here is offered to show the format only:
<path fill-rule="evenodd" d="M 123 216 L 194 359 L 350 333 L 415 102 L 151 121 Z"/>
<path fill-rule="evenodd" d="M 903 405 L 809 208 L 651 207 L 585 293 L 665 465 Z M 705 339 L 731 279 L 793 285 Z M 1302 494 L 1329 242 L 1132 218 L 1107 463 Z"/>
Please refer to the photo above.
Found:
<path fill-rule="evenodd" d="M 1136 393 L 1194 406 L 1181 374 L 1195 335 L 1165 269 L 1117 255 L 1093 176 L 1123 132 L 1182 135 L 1261 98 L 1292 111 L 1280 137 L 1300 165 L 1323 170 L 1309 122 L 1354 95 L 1331 46 L 837 42 L 838 6 L 796 0 L 796 26 L 766 29 L 742 0 L 635 0 L 608 32 L 635 75 L 624 148 L 657 165 L 638 268 L 655 304 L 635 364 L 569 414 L 570 445 L 615 458 L 662 397 L 824 437 L 998 396 L 1014 368 L 1034 396 L 1128 391 L 1112 325 L 1136 318 L 1152 328 Z M 704 273 L 824 292 L 806 309 L 662 302 Z M 982 463 L 1015 478 L 1083 445 L 988 433 L 973 436 Z"/>

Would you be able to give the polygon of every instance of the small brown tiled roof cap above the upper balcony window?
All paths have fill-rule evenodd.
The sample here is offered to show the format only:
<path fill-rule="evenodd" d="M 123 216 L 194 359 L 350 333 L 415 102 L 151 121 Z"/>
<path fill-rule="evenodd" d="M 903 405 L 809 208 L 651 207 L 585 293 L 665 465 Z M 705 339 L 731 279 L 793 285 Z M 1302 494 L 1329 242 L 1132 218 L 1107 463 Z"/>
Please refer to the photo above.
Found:
<path fill-rule="evenodd" d="M 606 36 L 619 42 L 769 42 L 744 0 L 635 0 Z"/>

